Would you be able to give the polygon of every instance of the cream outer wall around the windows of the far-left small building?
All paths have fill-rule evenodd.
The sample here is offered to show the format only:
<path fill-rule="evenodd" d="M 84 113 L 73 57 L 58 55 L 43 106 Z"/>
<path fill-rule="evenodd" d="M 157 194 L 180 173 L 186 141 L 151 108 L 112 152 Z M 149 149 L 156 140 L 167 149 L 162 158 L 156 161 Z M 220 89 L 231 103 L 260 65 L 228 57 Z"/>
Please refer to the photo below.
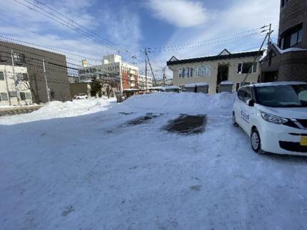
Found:
<path fill-rule="evenodd" d="M 14 69 L 15 69 L 16 75 L 18 73 L 27 73 L 27 69 L 25 67 L 16 66 Z M 1 105 L 31 105 L 32 104 L 31 99 L 20 100 L 20 104 L 19 104 L 16 96 L 10 96 L 9 92 L 16 92 L 13 67 L 0 65 L 0 72 L 4 73 L 4 80 L 0 80 L 0 93 L 6 93 L 6 96 L 8 98 L 8 100 L 1 100 L 0 106 Z M 23 83 L 19 83 L 17 85 L 17 90 L 19 90 L 19 93 L 31 94 L 31 90 L 29 90 L 26 87 L 26 85 L 24 85 Z"/>

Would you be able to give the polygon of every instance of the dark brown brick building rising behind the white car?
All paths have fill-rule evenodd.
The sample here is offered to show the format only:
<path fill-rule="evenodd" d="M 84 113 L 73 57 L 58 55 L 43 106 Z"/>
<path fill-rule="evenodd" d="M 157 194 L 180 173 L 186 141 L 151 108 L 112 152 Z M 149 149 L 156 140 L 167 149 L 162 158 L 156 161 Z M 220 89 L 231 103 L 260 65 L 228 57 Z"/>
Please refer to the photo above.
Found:
<path fill-rule="evenodd" d="M 281 0 L 278 44 L 270 43 L 261 81 L 307 81 L 307 1 Z"/>

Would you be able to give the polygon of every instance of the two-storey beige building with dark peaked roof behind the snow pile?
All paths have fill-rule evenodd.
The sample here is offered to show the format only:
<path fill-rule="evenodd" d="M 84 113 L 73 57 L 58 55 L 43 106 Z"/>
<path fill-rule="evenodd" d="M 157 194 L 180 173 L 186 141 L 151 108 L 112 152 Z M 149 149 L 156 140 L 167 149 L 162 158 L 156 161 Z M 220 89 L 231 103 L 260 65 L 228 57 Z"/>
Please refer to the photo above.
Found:
<path fill-rule="evenodd" d="M 167 62 L 167 66 L 173 72 L 173 85 L 184 88 L 191 83 L 208 83 L 209 94 L 217 93 L 220 83 L 231 81 L 233 90 L 237 90 L 244 80 L 246 73 L 251 73 L 246 83 L 256 83 L 259 78 L 259 60 L 263 54 L 254 58 L 258 51 L 244 53 L 229 53 L 226 49 L 217 56 L 191 58 L 178 60 L 174 56 Z"/>

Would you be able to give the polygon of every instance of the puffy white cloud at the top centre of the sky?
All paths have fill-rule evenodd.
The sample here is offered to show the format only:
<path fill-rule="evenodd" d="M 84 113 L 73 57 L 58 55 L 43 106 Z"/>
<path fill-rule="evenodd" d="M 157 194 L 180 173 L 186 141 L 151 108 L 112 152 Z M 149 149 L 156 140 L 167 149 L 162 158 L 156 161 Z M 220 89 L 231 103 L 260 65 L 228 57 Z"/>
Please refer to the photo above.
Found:
<path fill-rule="evenodd" d="M 199 1 L 149 0 L 153 14 L 177 27 L 192 27 L 207 20 L 207 11 Z"/>

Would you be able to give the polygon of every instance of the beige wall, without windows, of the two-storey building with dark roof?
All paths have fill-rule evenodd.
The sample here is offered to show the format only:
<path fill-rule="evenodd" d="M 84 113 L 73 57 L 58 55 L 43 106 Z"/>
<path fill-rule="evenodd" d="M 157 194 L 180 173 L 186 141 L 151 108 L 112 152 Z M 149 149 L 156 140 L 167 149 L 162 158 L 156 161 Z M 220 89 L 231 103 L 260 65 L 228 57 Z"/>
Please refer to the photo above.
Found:
<path fill-rule="evenodd" d="M 229 64 L 229 77 L 228 80 L 234 83 L 234 89 L 236 87 L 236 83 L 240 83 L 244 80 L 246 74 L 237 74 L 237 65 L 241 62 L 253 62 L 254 57 L 246 57 L 246 58 L 233 58 L 227 59 L 223 61 L 206 61 L 199 63 L 187 63 L 180 65 L 170 66 L 173 71 L 173 85 L 186 85 L 190 83 L 208 83 L 209 84 L 209 94 L 216 93 L 217 89 L 217 73 L 219 64 Z M 193 68 L 197 66 L 211 66 L 211 75 L 209 77 L 192 77 L 192 78 L 179 78 L 179 68 Z M 257 73 L 250 73 L 247 78 L 247 82 L 256 83 L 258 82 L 259 76 L 259 67 L 257 69 Z"/>

